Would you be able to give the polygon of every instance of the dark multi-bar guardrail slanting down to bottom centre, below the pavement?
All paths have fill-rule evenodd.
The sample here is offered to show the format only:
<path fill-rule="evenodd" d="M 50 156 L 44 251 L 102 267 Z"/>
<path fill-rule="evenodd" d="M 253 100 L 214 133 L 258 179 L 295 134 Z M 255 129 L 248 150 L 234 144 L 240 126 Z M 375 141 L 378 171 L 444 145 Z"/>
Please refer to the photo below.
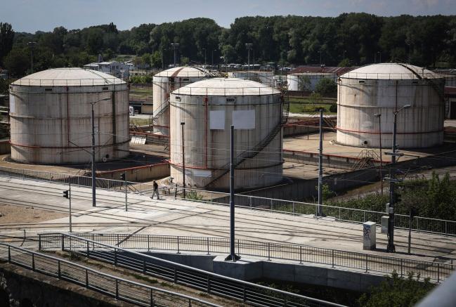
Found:
<path fill-rule="evenodd" d="M 39 249 L 62 249 L 169 280 L 175 284 L 235 299 L 253 306 L 341 306 L 336 303 L 293 294 L 252 282 L 236 280 L 190 266 L 159 259 L 127 249 L 103 244 L 77 235 L 49 233 L 40 235 Z"/>

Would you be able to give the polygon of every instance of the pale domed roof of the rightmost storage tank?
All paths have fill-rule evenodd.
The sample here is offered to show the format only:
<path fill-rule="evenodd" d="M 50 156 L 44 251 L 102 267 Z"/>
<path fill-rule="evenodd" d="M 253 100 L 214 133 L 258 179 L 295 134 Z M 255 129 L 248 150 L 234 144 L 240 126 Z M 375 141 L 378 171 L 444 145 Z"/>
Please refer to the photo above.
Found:
<path fill-rule="evenodd" d="M 436 79 L 439 74 L 422 67 L 403 63 L 380 63 L 359 67 L 341 75 L 348 79 Z"/>

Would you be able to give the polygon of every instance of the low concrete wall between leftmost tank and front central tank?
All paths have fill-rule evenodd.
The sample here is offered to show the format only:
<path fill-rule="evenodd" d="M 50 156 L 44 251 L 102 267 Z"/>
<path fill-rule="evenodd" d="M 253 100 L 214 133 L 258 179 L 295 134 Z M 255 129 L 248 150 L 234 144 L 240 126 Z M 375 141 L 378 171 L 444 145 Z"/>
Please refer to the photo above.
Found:
<path fill-rule="evenodd" d="M 145 166 L 131 167 L 128 169 L 116 169 L 115 171 L 99 171 L 98 178 L 120 180 L 120 174 L 126 174 L 127 181 L 149 181 L 169 176 L 169 163 L 157 163 Z"/>

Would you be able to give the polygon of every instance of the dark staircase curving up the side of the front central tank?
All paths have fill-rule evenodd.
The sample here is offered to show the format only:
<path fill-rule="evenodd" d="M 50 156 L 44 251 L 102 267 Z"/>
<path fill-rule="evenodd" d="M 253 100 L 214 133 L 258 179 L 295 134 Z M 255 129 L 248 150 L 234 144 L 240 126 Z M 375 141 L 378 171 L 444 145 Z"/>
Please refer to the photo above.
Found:
<path fill-rule="evenodd" d="M 237 157 L 234 158 L 234 166 L 237 167 L 240 164 L 242 164 L 242 162 L 245 162 L 247 159 L 252 159 L 256 155 L 258 155 L 264 148 L 266 148 L 266 146 L 269 145 L 269 143 L 271 143 L 271 141 L 273 141 L 275 136 L 277 136 L 277 134 L 282 130 L 282 126 L 287 123 L 288 113 L 289 113 L 289 100 L 283 98 L 283 96 L 282 96 L 282 115 L 280 118 L 280 122 L 274 127 L 273 130 L 271 130 L 271 132 L 268 133 L 266 138 L 263 138 L 263 140 L 260 143 L 256 144 L 256 146 L 254 146 L 254 148 L 245 150 L 245 151 L 241 152 L 239 155 L 237 155 Z M 212 188 L 216 181 L 218 181 L 220 178 L 222 178 L 229 172 L 230 172 L 230 163 L 228 162 L 227 164 L 222 166 L 221 169 L 217 169 L 216 171 L 214 171 L 212 173 L 213 174 L 213 176 L 211 178 L 212 180 L 209 181 L 209 183 L 207 183 L 204 186 L 204 188 Z"/>

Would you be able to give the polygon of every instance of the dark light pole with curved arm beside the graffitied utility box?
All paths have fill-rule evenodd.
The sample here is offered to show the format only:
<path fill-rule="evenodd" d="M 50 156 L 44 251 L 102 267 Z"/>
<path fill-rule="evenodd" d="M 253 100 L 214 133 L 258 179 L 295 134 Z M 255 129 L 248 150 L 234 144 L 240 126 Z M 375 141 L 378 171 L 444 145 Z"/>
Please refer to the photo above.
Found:
<path fill-rule="evenodd" d="M 394 246 L 394 204 L 396 202 L 396 194 L 394 191 L 396 178 L 394 171 L 394 164 L 396 164 L 396 156 L 401 156 L 400 153 L 396 152 L 398 145 L 396 144 L 396 129 L 397 129 L 397 115 L 400 111 L 408 109 L 410 105 L 404 105 L 399 110 L 393 112 L 394 122 L 393 122 L 393 148 L 392 152 L 388 152 L 388 155 L 391 155 L 391 167 L 389 168 L 389 218 L 388 218 L 388 246 L 386 250 L 388 252 L 396 252 L 396 247 Z"/>

